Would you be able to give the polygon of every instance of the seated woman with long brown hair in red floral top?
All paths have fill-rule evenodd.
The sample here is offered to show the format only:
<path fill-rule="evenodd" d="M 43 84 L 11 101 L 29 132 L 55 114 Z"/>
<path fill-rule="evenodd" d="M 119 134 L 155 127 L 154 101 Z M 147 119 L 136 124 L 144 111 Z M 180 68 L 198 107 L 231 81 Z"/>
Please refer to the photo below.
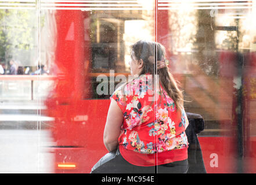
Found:
<path fill-rule="evenodd" d="M 160 43 L 131 46 L 135 76 L 111 95 L 104 145 L 115 157 L 92 173 L 186 173 L 188 118 Z M 114 153 L 113 153 L 114 151 Z"/>

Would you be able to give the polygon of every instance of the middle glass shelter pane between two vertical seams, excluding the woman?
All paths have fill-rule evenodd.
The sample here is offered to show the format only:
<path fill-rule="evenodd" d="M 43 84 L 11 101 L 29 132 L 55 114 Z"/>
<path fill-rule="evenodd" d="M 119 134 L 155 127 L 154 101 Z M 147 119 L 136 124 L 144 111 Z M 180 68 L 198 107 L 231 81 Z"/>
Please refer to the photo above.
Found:
<path fill-rule="evenodd" d="M 48 56 L 43 51 L 49 42 L 56 46 L 47 64 L 54 69 L 55 87 L 45 100 L 48 116 L 55 118 L 55 172 L 89 173 L 108 152 L 103 131 L 110 95 L 131 79 L 129 46 L 154 40 L 153 1 L 42 2 L 41 8 L 44 30 L 51 33 L 42 39 L 41 58 Z"/>

